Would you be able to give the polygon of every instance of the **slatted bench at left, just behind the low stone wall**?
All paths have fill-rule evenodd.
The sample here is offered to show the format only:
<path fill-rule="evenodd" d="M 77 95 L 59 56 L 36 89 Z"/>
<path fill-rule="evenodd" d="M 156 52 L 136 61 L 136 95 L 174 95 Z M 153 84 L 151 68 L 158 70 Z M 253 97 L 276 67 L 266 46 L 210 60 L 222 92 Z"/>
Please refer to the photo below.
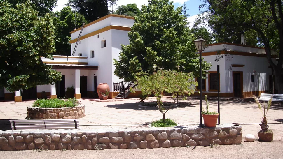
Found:
<path fill-rule="evenodd" d="M 78 119 L 10 120 L 12 130 L 80 129 Z"/>

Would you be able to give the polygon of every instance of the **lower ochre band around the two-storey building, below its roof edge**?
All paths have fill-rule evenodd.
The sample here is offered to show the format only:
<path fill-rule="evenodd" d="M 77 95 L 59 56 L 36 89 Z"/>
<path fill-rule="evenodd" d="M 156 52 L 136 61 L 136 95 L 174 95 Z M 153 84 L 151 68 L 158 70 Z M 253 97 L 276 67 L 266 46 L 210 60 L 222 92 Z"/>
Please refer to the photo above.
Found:
<path fill-rule="evenodd" d="M 99 33 L 103 33 L 104 31 L 108 31 L 108 30 L 111 30 L 111 29 L 115 29 L 115 30 L 123 30 L 123 31 L 131 31 L 131 28 L 130 27 L 126 27 L 126 26 L 113 26 L 113 25 L 109 25 L 109 26 L 106 26 L 102 29 L 99 29 L 97 31 L 93 31 L 91 33 L 88 33 L 84 36 L 81 36 L 80 40 L 83 40 L 83 39 L 86 39 L 86 38 L 89 38 L 91 36 L 95 36 Z M 76 39 L 73 39 L 73 40 L 70 40 L 69 43 L 76 43 L 78 40 L 78 38 Z"/>

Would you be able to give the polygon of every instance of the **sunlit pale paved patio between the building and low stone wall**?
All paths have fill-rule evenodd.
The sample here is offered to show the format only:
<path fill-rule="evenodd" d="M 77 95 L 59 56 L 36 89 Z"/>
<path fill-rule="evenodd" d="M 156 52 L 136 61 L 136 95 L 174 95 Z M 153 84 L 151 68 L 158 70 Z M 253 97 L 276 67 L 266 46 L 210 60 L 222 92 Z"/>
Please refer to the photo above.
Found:
<path fill-rule="evenodd" d="M 162 118 L 162 114 L 156 107 L 139 107 L 139 99 L 96 102 L 90 100 L 80 100 L 85 105 L 86 117 L 79 119 L 82 129 L 113 129 L 113 128 L 139 128 L 145 127 L 142 124 L 148 124 L 151 121 Z M 149 98 L 145 102 L 156 101 L 155 98 Z M 172 98 L 163 98 L 163 101 L 172 101 Z M 186 101 L 180 101 L 181 105 L 169 110 L 166 118 L 174 119 L 181 126 L 187 124 L 196 124 L 200 120 L 199 100 L 188 98 Z M 33 101 L 0 102 L 0 121 L 3 119 L 25 119 L 27 117 L 27 107 L 31 106 Z M 203 101 L 203 106 L 205 101 Z M 217 101 L 210 100 L 210 111 L 217 111 Z M 274 131 L 274 139 L 283 140 L 283 106 L 273 104 L 270 108 L 267 118 L 270 128 Z M 220 101 L 220 122 L 224 123 L 260 123 L 262 114 L 253 101 L 229 100 Z M 258 124 L 242 125 L 243 136 L 251 133 L 257 137 L 257 131 L 260 130 Z"/>

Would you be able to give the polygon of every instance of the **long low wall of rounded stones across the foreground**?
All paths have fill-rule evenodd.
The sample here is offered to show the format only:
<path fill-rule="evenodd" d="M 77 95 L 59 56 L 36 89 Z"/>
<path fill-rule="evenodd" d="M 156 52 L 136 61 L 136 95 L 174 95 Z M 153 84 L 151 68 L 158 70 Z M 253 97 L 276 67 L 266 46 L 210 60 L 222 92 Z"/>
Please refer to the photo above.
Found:
<path fill-rule="evenodd" d="M 0 131 L 0 150 L 32 149 L 145 149 L 210 144 L 240 144 L 242 126 L 216 128 L 150 128 L 113 131 L 10 130 Z"/>

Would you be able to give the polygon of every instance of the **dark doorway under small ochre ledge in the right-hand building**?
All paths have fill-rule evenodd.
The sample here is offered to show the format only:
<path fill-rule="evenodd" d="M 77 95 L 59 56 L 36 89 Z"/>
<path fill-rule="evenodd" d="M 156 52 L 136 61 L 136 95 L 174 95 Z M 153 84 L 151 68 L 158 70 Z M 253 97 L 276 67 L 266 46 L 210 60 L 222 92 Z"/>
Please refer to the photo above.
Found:
<path fill-rule="evenodd" d="M 233 71 L 233 93 L 235 97 L 243 96 L 243 72 Z"/>

